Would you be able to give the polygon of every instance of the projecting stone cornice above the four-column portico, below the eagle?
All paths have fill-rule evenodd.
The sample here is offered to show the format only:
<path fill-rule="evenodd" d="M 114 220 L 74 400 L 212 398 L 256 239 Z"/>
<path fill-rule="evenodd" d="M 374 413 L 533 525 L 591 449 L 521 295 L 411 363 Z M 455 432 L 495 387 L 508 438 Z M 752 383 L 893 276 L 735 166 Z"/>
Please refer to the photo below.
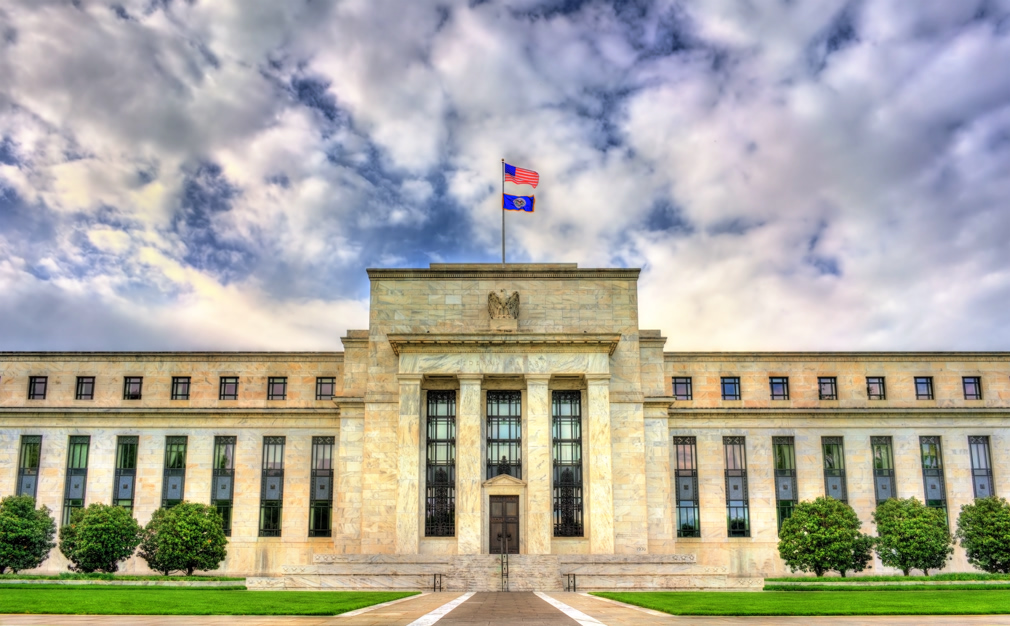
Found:
<path fill-rule="evenodd" d="M 621 340 L 620 333 L 395 333 L 388 334 L 393 352 L 601 352 L 613 354 Z"/>

